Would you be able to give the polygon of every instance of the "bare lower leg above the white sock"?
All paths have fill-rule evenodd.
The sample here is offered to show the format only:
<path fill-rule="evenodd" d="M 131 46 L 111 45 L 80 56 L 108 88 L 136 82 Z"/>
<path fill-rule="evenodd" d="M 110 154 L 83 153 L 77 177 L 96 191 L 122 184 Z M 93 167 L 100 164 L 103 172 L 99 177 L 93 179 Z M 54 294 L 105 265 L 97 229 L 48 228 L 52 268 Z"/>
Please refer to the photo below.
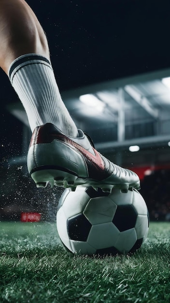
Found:
<path fill-rule="evenodd" d="M 0 0 L 0 67 L 8 73 L 19 56 L 35 53 L 49 58 L 42 27 L 24 0 Z"/>

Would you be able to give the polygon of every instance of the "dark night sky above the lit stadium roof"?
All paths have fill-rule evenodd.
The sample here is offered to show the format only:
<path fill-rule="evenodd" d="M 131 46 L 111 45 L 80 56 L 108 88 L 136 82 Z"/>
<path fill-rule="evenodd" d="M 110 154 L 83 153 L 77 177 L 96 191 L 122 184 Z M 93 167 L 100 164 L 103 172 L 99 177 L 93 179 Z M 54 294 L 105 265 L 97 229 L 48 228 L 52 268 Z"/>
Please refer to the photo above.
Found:
<path fill-rule="evenodd" d="M 47 34 L 60 91 L 170 67 L 170 0 L 27 2 Z M 21 124 L 5 105 L 17 97 L 2 71 L 0 80 L 0 137 L 11 154 Z"/>

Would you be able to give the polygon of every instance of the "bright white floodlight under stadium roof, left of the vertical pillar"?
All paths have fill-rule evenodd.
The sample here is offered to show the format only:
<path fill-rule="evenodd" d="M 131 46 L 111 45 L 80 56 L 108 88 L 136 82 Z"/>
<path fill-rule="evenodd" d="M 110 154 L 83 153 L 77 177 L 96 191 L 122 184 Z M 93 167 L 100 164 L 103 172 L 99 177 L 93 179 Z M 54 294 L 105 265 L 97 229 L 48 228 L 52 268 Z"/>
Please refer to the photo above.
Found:
<path fill-rule="evenodd" d="M 103 108 L 105 107 L 105 104 L 100 101 L 95 95 L 89 93 L 85 95 L 81 95 L 79 97 L 80 101 L 83 102 L 87 106 L 94 107 L 99 112 L 103 111 Z"/>

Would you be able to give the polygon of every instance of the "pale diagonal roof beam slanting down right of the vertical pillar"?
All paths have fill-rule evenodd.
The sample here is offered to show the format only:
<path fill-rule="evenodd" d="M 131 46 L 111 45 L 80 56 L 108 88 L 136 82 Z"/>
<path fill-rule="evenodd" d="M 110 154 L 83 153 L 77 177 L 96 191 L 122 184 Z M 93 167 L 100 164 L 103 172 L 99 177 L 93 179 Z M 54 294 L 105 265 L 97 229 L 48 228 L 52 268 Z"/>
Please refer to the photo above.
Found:
<path fill-rule="evenodd" d="M 149 100 L 140 94 L 134 85 L 126 85 L 124 87 L 124 90 L 129 94 L 130 97 L 132 97 L 142 108 L 153 118 L 158 118 L 158 110 L 157 108 L 154 108 Z"/>

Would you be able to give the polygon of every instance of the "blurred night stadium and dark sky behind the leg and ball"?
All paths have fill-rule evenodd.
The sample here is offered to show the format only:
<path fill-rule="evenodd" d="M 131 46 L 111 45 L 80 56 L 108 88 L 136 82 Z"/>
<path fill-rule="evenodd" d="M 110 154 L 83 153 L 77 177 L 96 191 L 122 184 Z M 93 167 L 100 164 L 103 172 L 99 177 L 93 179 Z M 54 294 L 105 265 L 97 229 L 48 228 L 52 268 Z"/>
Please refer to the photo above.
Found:
<path fill-rule="evenodd" d="M 28 4 L 77 127 L 99 152 L 139 174 L 150 219 L 170 221 L 170 2 Z M 2 71 L 0 80 L 0 220 L 35 212 L 54 221 L 63 189 L 36 189 L 30 180 L 28 120 Z"/>

